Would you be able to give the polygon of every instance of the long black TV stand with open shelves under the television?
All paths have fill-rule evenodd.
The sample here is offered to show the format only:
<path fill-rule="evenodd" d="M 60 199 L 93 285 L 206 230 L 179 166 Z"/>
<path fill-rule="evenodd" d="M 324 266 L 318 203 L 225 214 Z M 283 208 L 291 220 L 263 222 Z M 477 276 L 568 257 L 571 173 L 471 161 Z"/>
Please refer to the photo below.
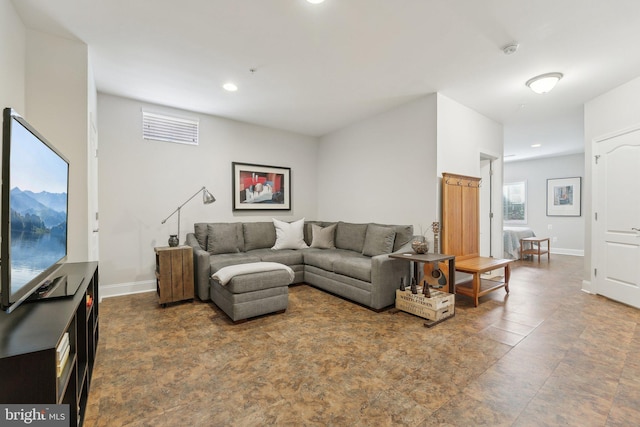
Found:
<path fill-rule="evenodd" d="M 0 313 L 0 402 L 68 404 L 69 425 L 76 426 L 84 421 L 98 346 L 98 263 L 68 263 L 58 274 L 80 283 L 73 297 Z"/>

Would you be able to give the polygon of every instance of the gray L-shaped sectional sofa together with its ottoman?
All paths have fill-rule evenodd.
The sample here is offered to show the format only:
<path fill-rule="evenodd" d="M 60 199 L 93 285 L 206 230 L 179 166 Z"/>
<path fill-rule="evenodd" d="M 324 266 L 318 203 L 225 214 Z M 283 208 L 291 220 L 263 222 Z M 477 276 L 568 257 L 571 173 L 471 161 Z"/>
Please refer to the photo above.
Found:
<path fill-rule="evenodd" d="M 234 287 L 242 288 L 240 281 L 221 287 L 211 276 L 230 265 L 275 262 L 293 270 L 294 278 L 289 283 L 307 283 L 380 310 L 394 304 L 400 278 L 410 277 L 410 263 L 388 255 L 411 250 L 413 226 L 307 221 L 303 225 L 304 242 L 297 249 L 288 249 L 291 245 L 281 244 L 278 223 L 281 222 L 195 224 L 194 233 L 187 235 L 187 244 L 193 247 L 196 295 L 201 300 L 213 299 L 234 321 L 261 314 L 264 301 L 255 298 L 247 301 L 246 295 L 234 294 Z M 285 249 L 274 249 L 283 246 Z M 244 291 L 238 292 L 265 295 L 283 292 L 275 284 L 258 289 L 256 280 L 246 282 Z M 254 286 L 251 289 L 247 288 L 249 282 Z M 242 304 L 249 308 L 245 307 L 243 314 L 233 315 L 231 309 L 221 306 Z M 281 303 L 274 304 L 281 308 Z"/>

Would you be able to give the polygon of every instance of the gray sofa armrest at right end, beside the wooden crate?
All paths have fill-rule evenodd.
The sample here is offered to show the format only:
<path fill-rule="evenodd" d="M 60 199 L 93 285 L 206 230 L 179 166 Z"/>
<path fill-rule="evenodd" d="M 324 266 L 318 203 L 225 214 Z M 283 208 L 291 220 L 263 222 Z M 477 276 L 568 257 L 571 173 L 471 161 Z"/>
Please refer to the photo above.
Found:
<path fill-rule="evenodd" d="M 411 250 L 411 243 L 399 248 L 394 253 Z M 396 289 L 400 288 L 400 278 L 405 281 L 411 277 L 411 263 L 402 259 L 390 258 L 389 255 L 376 255 L 371 258 L 371 307 L 382 309 L 393 305 L 396 301 Z"/>

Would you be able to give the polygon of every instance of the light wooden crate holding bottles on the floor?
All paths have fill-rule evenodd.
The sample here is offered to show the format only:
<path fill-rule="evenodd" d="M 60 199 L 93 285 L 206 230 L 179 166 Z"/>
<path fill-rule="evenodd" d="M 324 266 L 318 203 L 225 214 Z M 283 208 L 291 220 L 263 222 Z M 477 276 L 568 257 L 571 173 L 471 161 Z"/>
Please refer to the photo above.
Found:
<path fill-rule="evenodd" d="M 412 294 L 410 290 L 396 290 L 396 308 L 429 320 L 442 320 L 453 316 L 455 295 L 446 292 L 431 291 L 431 298 L 421 294 Z"/>

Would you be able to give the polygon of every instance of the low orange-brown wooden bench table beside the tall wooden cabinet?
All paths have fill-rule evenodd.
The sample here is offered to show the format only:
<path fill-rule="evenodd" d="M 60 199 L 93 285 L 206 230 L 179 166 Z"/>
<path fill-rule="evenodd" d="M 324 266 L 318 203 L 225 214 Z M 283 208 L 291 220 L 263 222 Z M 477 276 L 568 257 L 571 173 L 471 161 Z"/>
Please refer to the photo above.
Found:
<path fill-rule="evenodd" d="M 466 286 L 456 286 L 457 294 L 466 295 L 473 298 L 474 304 L 478 306 L 478 298 L 493 292 L 497 289 L 504 288 L 509 293 L 509 279 L 511 277 L 512 259 L 499 259 L 489 257 L 468 258 L 462 261 L 456 261 L 456 270 L 469 273 L 473 276 L 471 288 Z M 503 280 L 482 279 L 482 273 L 504 268 Z"/>

